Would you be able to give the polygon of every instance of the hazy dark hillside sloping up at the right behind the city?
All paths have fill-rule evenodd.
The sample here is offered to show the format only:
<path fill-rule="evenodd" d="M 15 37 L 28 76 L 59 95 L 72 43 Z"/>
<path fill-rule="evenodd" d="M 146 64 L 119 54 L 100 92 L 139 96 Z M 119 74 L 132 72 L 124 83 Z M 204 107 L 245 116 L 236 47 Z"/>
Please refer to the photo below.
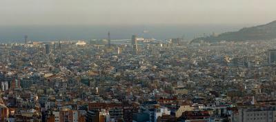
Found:
<path fill-rule="evenodd" d="M 267 23 L 261 26 L 254 26 L 250 28 L 242 28 L 237 32 L 225 32 L 218 36 L 200 37 L 193 39 L 192 42 L 206 41 L 255 41 L 255 40 L 270 40 L 276 39 L 276 21 Z"/>

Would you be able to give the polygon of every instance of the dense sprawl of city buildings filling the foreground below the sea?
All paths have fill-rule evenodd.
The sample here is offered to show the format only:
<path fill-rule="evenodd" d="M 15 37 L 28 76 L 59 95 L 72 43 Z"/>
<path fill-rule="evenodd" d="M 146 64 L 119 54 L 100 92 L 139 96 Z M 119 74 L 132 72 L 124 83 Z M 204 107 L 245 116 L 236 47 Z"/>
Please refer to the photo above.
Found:
<path fill-rule="evenodd" d="M 276 41 L 1 43 L 1 121 L 276 121 Z"/>

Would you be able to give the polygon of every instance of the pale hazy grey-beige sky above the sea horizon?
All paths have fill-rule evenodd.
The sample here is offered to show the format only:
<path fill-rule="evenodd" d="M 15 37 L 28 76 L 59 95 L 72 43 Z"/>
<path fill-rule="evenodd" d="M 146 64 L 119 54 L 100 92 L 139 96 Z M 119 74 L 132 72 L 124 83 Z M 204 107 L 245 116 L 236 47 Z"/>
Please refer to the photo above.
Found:
<path fill-rule="evenodd" d="M 1 0 L 0 26 L 248 24 L 276 20 L 275 0 Z"/>

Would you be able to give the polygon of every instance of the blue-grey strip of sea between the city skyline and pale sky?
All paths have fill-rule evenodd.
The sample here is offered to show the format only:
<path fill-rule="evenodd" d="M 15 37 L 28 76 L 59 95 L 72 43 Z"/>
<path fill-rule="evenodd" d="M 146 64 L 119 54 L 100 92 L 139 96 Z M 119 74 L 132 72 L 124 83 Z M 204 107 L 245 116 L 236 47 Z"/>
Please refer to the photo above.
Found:
<path fill-rule="evenodd" d="M 130 39 L 132 34 L 138 37 L 154 39 L 184 38 L 190 41 L 194 37 L 229 31 L 237 31 L 254 25 L 158 25 L 158 26 L 0 26 L 0 42 L 22 42 L 23 35 L 30 41 Z"/>

